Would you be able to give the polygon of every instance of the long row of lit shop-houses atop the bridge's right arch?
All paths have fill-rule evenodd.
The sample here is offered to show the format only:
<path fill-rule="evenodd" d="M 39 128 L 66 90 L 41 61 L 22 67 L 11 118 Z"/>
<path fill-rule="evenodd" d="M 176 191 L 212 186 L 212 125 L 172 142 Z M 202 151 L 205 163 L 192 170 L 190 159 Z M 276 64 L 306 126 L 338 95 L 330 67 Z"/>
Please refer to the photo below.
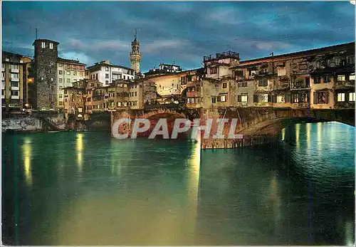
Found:
<path fill-rule="evenodd" d="M 237 83 L 237 106 L 330 109 L 355 105 L 355 43 L 241 61 L 231 70 Z"/>

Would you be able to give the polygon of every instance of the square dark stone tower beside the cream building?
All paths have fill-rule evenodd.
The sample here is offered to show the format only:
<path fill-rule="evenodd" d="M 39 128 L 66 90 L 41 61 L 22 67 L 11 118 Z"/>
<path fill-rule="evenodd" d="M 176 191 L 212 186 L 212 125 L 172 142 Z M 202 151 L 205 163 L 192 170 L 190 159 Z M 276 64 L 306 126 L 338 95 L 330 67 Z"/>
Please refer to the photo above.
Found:
<path fill-rule="evenodd" d="M 53 109 L 56 107 L 57 95 L 57 58 L 58 42 L 48 39 L 36 39 L 34 74 L 35 74 L 35 107 Z"/>

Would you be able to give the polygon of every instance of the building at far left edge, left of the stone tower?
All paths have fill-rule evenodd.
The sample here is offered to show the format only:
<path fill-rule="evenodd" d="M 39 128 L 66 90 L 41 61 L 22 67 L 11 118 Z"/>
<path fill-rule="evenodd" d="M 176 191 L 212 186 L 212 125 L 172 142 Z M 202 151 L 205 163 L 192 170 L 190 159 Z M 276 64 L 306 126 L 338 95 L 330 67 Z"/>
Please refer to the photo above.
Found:
<path fill-rule="evenodd" d="M 3 109 L 22 109 L 28 104 L 28 82 L 31 75 L 31 58 L 2 51 L 1 105 Z"/>

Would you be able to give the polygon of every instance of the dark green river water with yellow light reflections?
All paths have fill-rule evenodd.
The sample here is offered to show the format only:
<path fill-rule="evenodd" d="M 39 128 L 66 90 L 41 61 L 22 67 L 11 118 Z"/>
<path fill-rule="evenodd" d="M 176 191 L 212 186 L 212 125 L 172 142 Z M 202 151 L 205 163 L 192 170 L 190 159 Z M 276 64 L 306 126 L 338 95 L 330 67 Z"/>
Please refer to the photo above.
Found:
<path fill-rule="evenodd" d="M 354 127 L 200 150 L 103 132 L 2 137 L 2 235 L 21 245 L 350 245 Z"/>

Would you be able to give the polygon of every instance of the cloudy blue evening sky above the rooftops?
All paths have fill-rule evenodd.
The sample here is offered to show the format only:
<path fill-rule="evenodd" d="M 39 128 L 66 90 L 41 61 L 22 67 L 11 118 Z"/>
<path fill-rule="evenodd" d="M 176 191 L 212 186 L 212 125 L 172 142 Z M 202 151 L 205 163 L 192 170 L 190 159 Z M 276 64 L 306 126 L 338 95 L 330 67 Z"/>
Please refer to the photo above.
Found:
<path fill-rule="evenodd" d="M 141 70 L 159 63 L 201 67 L 203 56 L 241 60 L 355 41 L 345 2 L 2 2 L 2 49 L 33 56 L 33 40 L 58 41 L 59 56 L 130 66 L 135 28 Z"/>

